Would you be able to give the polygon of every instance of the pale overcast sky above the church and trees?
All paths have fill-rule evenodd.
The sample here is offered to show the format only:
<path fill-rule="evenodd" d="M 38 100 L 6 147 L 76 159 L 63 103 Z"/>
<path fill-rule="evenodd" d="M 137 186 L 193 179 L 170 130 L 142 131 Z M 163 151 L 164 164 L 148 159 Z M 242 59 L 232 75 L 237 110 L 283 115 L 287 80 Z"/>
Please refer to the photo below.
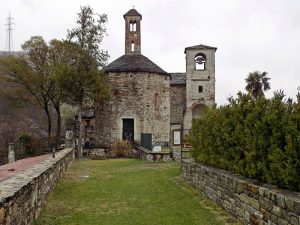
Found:
<path fill-rule="evenodd" d="M 294 98 L 300 86 L 300 0 L 0 0 L 0 50 L 9 12 L 14 50 L 20 50 L 31 36 L 65 38 L 83 5 L 108 15 L 102 48 L 109 62 L 124 54 L 123 14 L 133 5 L 143 16 L 142 54 L 167 72 L 185 72 L 185 47 L 217 47 L 218 104 L 244 90 L 255 70 L 269 73 L 267 96 L 283 89 Z"/>

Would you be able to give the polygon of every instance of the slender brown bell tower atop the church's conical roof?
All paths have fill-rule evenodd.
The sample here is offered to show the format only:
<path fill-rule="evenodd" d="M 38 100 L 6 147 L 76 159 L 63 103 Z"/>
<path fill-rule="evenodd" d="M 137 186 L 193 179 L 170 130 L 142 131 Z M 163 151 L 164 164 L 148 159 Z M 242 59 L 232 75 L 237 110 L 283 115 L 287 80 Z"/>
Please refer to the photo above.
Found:
<path fill-rule="evenodd" d="M 125 19 L 125 55 L 141 54 L 142 15 L 135 9 L 124 14 Z"/>

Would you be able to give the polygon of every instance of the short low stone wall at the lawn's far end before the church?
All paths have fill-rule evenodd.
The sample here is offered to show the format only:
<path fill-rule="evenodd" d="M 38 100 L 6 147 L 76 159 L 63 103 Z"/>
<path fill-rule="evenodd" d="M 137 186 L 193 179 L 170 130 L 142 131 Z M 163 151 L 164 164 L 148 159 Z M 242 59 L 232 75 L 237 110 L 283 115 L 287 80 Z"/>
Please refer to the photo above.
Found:
<path fill-rule="evenodd" d="M 136 157 L 148 162 L 169 162 L 173 160 L 168 152 L 152 152 L 142 146 L 135 146 Z"/>

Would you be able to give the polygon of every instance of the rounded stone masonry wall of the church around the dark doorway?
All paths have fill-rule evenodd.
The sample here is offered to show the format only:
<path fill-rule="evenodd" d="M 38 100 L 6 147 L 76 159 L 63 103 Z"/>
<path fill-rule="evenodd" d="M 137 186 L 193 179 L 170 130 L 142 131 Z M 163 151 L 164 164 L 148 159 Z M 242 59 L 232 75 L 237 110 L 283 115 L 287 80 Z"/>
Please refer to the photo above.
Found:
<path fill-rule="evenodd" d="M 170 132 L 170 77 L 154 73 L 108 73 L 113 99 L 99 105 L 95 139 L 108 145 L 122 139 L 122 119 L 134 119 L 134 140 L 152 133 L 153 143 L 168 142 Z"/>

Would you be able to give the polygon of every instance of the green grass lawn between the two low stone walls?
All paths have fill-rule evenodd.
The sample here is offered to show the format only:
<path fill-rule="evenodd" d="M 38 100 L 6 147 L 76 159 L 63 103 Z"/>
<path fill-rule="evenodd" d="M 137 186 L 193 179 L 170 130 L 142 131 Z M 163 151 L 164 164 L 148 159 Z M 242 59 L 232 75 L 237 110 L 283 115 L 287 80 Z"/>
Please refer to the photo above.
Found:
<path fill-rule="evenodd" d="M 179 178 L 179 163 L 72 162 L 35 225 L 236 224 Z"/>

